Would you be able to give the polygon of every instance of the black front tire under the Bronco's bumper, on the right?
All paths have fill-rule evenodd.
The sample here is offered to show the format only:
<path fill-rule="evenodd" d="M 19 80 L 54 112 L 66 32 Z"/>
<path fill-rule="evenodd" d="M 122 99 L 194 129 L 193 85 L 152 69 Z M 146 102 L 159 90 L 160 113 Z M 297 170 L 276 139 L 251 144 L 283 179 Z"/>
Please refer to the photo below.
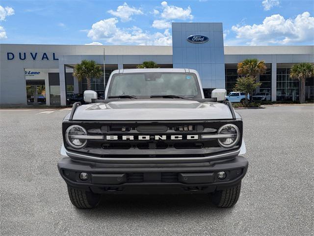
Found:
<path fill-rule="evenodd" d="M 240 196 L 241 183 L 232 188 L 215 191 L 211 194 L 211 201 L 217 207 L 233 207 Z"/>

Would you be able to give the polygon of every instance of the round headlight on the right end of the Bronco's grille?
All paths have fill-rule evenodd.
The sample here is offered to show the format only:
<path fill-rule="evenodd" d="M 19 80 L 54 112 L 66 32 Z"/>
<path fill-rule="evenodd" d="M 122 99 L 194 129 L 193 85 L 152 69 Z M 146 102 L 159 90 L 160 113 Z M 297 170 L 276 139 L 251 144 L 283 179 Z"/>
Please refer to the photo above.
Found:
<path fill-rule="evenodd" d="M 220 127 L 218 134 L 230 135 L 228 138 L 218 139 L 218 143 L 223 148 L 232 148 L 234 147 L 240 138 L 239 128 L 234 124 L 225 124 Z"/>

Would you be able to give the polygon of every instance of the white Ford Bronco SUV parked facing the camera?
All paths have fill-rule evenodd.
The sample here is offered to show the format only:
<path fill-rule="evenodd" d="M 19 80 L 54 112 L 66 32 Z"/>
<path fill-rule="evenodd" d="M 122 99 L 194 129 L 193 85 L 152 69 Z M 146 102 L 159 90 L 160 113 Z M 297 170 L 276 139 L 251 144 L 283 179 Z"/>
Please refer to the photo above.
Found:
<path fill-rule="evenodd" d="M 62 123 L 58 170 L 78 208 L 102 194 L 209 195 L 218 207 L 238 200 L 248 161 L 241 117 L 225 89 L 204 98 L 191 69 L 121 69 L 105 99 L 84 92 Z"/>

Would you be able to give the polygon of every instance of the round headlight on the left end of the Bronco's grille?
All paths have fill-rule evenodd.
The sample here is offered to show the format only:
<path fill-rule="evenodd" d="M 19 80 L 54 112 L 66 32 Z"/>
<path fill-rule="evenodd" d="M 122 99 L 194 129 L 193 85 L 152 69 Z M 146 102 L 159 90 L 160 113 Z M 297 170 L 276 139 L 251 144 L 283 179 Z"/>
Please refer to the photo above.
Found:
<path fill-rule="evenodd" d="M 71 125 L 65 131 L 65 139 L 72 148 L 83 148 L 87 140 L 75 138 L 76 135 L 87 135 L 86 130 L 79 125 Z"/>

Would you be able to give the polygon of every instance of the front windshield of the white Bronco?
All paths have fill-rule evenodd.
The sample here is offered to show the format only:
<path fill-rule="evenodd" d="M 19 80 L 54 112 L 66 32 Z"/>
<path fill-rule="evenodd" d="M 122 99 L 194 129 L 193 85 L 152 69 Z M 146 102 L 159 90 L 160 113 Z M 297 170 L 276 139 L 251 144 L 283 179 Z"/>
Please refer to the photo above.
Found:
<path fill-rule="evenodd" d="M 147 98 L 154 95 L 202 98 L 196 75 L 178 72 L 114 74 L 107 96 L 123 95 L 131 95 L 136 98 Z"/>

